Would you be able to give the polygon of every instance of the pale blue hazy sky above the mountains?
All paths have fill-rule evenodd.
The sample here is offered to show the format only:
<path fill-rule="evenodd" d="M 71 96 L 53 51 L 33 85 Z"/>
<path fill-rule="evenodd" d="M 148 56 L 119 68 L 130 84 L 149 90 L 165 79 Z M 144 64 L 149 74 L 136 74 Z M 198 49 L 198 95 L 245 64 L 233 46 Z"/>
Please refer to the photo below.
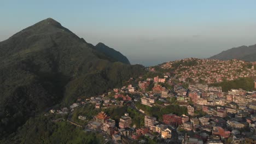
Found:
<path fill-rule="evenodd" d="M 247 0 L 0 0 L 0 41 L 48 17 L 146 66 L 256 44 L 256 1 Z"/>

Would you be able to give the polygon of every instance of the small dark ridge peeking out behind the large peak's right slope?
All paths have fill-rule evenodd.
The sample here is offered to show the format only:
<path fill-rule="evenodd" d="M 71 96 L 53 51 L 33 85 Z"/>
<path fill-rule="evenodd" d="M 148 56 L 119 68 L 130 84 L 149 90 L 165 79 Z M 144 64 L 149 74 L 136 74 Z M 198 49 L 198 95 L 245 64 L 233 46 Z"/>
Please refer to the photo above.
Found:
<path fill-rule="evenodd" d="M 118 62 L 130 64 L 129 60 L 124 55 L 122 55 L 122 53 L 120 53 L 119 51 L 115 51 L 114 49 L 106 46 L 103 43 L 98 43 L 95 46 L 95 49 L 104 53 L 106 56 L 116 59 L 116 61 L 118 61 Z"/>

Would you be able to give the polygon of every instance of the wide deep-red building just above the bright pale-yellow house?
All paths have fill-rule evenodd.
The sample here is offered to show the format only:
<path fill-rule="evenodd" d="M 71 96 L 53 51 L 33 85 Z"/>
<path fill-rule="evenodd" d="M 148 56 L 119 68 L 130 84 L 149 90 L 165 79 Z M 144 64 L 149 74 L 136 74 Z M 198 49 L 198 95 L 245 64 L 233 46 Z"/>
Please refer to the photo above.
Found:
<path fill-rule="evenodd" d="M 179 116 L 176 116 L 172 113 L 169 113 L 167 115 L 163 115 L 162 119 L 165 124 L 172 124 L 172 125 L 181 125 L 182 124 L 182 118 Z"/>

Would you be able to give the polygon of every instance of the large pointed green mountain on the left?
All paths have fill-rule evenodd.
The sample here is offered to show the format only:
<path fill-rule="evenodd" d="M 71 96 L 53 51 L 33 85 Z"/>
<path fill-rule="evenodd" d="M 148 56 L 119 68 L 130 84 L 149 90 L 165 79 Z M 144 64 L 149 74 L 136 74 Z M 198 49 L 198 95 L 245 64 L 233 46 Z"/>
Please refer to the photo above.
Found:
<path fill-rule="evenodd" d="M 0 42 L 0 140 L 27 119 L 90 98 L 144 73 L 48 18 Z"/>

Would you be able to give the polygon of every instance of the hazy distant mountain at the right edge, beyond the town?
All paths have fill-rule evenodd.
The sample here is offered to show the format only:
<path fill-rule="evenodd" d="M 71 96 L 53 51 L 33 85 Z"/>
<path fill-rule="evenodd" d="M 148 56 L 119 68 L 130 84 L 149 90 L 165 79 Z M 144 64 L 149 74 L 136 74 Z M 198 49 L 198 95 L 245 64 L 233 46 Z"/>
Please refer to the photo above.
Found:
<path fill-rule="evenodd" d="M 256 44 L 251 46 L 240 46 L 220 52 L 217 55 L 210 57 L 210 59 L 229 60 L 241 59 L 243 61 L 256 61 Z"/>

